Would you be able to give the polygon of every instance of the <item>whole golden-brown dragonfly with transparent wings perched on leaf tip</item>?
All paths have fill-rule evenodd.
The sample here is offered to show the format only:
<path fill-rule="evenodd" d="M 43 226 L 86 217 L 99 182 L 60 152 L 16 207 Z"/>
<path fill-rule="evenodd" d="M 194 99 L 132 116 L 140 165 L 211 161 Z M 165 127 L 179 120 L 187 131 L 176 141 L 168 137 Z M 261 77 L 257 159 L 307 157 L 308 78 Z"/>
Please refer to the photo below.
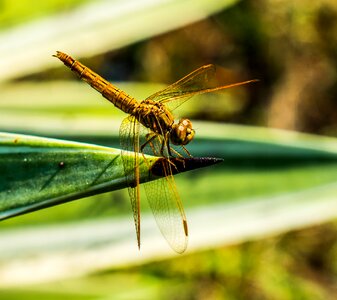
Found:
<path fill-rule="evenodd" d="M 162 165 L 164 174 L 162 178 L 143 183 L 143 185 L 162 235 L 173 250 L 183 253 L 187 248 L 188 226 L 172 175 L 175 166 L 170 158 L 191 156 L 185 146 L 193 140 L 195 130 L 192 122 L 187 118 L 181 118 L 175 122 L 172 112 L 194 95 L 216 92 L 257 80 L 218 85 L 216 68 L 209 64 L 196 69 L 167 88 L 139 102 L 70 55 L 57 51 L 54 56 L 77 74 L 81 80 L 101 93 L 115 107 L 128 114 L 122 121 L 119 136 L 139 249 L 140 155 L 144 156 L 144 153 L 149 153 L 164 157 L 169 162 Z M 175 150 L 173 145 L 180 147 L 183 154 Z M 134 153 L 132 160 L 126 158 L 130 151 Z"/>

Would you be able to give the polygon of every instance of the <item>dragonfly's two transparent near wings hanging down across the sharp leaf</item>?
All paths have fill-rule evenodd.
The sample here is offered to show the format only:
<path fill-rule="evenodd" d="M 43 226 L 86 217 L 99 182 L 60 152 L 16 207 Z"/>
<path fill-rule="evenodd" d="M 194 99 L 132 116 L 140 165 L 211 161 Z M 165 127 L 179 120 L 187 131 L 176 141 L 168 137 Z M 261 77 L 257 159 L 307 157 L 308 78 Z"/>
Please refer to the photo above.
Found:
<path fill-rule="evenodd" d="M 146 143 L 151 139 L 151 142 Z M 142 126 L 133 116 L 125 118 L 120 127 L 122 160 L 128 185 L 133 216 L 135 221 L 138 247 L 140 247 L 140 185 L 139 155 L 143 152 L 161 156 L 164 137 Z M 127 159 L 126 152 L 134 151 L 134 159 Z M 167 152 L 167 150 L 165 150 Z M 172 176 L 172 164 L 163 158 L 165 177 L 144 183 L 147 200 L 157 225 L 169 245 L 178 253 L 185 251 L 188 240 L 188 228 L 185 212 Z"/>

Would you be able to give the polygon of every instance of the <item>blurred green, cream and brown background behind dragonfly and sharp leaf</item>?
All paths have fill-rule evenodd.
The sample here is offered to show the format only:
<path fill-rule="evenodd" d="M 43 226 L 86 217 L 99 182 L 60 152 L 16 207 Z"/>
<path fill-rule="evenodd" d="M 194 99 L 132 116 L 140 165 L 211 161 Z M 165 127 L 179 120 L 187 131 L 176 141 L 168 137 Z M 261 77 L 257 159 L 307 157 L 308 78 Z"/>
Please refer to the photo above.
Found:
<path fill-rule="evenodd" d="M 147 225 L 140 252 L 99 239 L 133 221 L 126 191 L 98 195 L 0 224 L 1 299 L 337 299 L 336 20 L 332 0 L 0 1 L 1 131 L 118 147 L 123 113 L 56 50 L 139 100 L 208 63 L 260 80 L 175 111 L 193 155 L 225 159 L 176 178 L 185 254 Z M 72 227 L 83 244 L 54 241 Z"/>

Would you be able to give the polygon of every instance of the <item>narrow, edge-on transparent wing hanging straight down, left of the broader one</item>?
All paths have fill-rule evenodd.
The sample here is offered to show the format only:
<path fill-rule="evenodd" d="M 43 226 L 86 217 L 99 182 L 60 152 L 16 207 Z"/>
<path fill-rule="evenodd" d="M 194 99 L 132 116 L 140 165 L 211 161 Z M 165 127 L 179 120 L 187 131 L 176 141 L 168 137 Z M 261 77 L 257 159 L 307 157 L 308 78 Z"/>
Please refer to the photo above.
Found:
<path fill-rule="evenodd" d="M 129 116 L 123 120 L 119 129 L 122 160 L 126 181 L 129 185 L 128 192 L 135 221 L 138 248 L 140 248 L 139 127 L 139 122 L 133 116 Z M 134 151 L 133 159 L 127 158 L 127 151 Z"/>

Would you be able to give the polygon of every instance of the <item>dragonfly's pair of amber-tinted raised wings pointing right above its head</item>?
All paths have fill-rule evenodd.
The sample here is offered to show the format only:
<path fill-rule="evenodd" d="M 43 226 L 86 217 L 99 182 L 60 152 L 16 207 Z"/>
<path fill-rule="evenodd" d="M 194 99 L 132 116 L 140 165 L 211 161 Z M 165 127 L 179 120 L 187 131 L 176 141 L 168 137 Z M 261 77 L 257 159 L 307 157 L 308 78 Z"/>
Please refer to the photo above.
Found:
<path fill-rule="evenodd" d="M 147 99 L 167 103 L 170 110 L 174 110 L 194 95 L 224 90 L 230 87 L 247 84 L 256 80 L 248 80 L 228 85 L 221 82 L 214 65 L 205 65 L 186 75 Z"/>

